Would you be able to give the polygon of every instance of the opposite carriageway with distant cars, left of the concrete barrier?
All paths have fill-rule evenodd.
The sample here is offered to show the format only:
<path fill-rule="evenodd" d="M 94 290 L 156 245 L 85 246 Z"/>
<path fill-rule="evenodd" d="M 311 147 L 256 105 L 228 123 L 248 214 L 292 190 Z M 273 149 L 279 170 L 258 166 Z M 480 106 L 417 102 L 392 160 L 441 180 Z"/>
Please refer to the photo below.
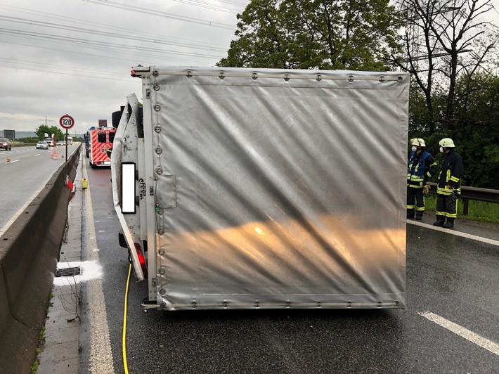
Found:
<path fill-rule="evenodd" d="M 77 144 L 68 146 L 71 155 Z M 59 158 L 52 159 L 53 150 Z M 54 172 L 64 162 L 65 148 L 37 150 L 34 146 L 15 147 L 11 151 L 0 151 L 0 235 L 51 179 Z M 11 161 L 8 163 L 7 158 Z"/>

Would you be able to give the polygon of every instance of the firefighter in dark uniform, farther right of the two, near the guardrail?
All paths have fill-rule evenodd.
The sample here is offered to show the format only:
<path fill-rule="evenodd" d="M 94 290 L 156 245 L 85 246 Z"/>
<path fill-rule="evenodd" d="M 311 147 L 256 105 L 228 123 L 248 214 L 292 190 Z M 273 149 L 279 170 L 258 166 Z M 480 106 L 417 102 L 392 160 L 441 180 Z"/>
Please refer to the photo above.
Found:
<path fill-rule="evenodd" d="M 458 198 L 461 195 L 460 178 L 464 173 L 462 158 L 455 152 L 451 138 L 439 141 L 440 152 L 443 156 L 442 170 L 439 175 L 439 184 L 436 187 L 436 221 L 434 226 L 452 228 L 455 217 L 458 216 Z M 447 221 L 446 221 L 447 219 Z"/>

